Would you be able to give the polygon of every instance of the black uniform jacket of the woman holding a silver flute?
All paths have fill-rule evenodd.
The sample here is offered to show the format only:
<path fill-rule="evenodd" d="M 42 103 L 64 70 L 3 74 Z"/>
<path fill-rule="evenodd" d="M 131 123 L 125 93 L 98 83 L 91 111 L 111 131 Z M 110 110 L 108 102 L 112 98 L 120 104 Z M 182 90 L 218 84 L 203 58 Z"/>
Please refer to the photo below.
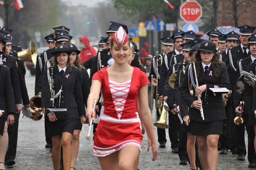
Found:
<path fill-rule="evenodd" d="M 192 67 L 193 68 L 193 67 Z M 216 96 L 212 93 L 209 88 L 213 88 L 214 85 L 217 85 L 218 87 L 226 87 L 229 89 L 229 80 L 228 80 L 228 74 L 227 74 L 227 67 L 223 63 L 221 65 L 220 70 L 220 75 L 218 77 L 215 77 L 214 74 L 215 72 L 212 70 L 212 65 L 208 69 L 207 74 L 205 75 L 203 71 L 203 66 L 200 63 L 200 75 L 197 77 L 198 80 L 198 86 L 206 84 L 206 91 L 201 94 L 201 101 L 203 102 L 203 113 L 204 113 L 204 118 L 205 120 L 202 120 L 200 110 L 192 107 L 191 105 L 195 100 L 198 100 L 197 96 L 190 95 L 189 91 L 189 86 L 191 83 L 191 80 L 188 81 L 188 76 L 189 76 L 189 69 L 186 70 L 183 80 L 181 81 L 180 84 L 180 95 L 182 99 L 187 104 L 187 107 L 189 107 L 189 115 L 190 115 L 190 120 L 194 120 L 197 122 L 211 122 L 211 121 L 216 121 L 216 120 L 224 120 L 226 119 L 226 112 L 225 112 L 225 107 L 224 107 L 224 102 L 222 100 L 222 94 L 221 93 L 216 93 Z M 212 71 L 212 76 L 209 75 L 210 71 Z M 195 75 L 193 71 L 193 77 L 194 77 L 194 82 L 196 84 L 195 80 Z M 195 89 L 193 89 L 193 94 L 195 94 Z"/>

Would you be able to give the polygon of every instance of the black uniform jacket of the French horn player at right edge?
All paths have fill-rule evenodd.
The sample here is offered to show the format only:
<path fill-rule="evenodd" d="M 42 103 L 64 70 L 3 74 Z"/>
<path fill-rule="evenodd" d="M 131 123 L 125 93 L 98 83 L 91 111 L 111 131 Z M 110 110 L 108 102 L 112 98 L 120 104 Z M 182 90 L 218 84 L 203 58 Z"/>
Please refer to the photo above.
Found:
<path fill-rule="evenodd" d="M 242 65 L 242 70 L 250 73 L 250 71 L 252 71 L 252 73 L 255 75 L 255 66 L 256 63 L 252 62 L 251 57 L 247 57 L 244 59 L 241 59 L 239 62 L 241 62 Z M 241 76 L 240 74 L 240 70 L 239 70 L 239 62 L 237 64 L 237 75 L 236 75 L 236 80 L 239 79 L 239 77 Z M 251 87 L 248 83 L 246 83 L 244 81 L 244 92 L 243 93 L 237 93 L 235 91 L 234 93 L 234 106 L 237 107 L 240 104 L 240 101 L 244 101 L 245 105 L 244 105 L 244 112 L 243 114 L 249 114 L 249 109 L 252 109 L 252 95 L 253 95 L 253 87 Z"/>

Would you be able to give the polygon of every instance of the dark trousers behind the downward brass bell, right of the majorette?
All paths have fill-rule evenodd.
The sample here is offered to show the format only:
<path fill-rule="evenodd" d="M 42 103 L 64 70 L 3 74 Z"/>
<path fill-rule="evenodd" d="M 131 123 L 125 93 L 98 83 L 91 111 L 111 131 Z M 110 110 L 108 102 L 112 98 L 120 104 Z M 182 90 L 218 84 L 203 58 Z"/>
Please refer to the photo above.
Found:
<path fill-rule="evenodd" d="M 157 120 L 160 117 L 158 108 L 156 106 L 156 111 L 157 111 Z M 176 126 L 176 123 L 179 120 L 178 115 L 173 115 L 170 111 L 168 111 L 169 113 L 169 139 L 171 141 L 171 148 L 175 148 L 178 147 L 179 143 L 178 143 L 178 129 Z M 178 121 L 177 121 L 178 119 Z M 157 128 L 157 137 L 158 137 L 158 142 L 160 144 L 162 144 L 163 142 L 166 143 L 166 134 L 165 134 L 165 129 L 161 129 L 161 128 Z"/>

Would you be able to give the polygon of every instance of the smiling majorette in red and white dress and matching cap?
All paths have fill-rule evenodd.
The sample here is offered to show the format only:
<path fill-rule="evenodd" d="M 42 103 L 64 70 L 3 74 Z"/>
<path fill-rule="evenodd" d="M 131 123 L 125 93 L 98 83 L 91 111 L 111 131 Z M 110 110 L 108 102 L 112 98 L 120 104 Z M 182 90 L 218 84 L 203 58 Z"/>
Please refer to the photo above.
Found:
<path fill-rule="evenodd" d="M 149 147 L 152 146 L 153 161 L 158 154 L 151 113 L 148 103 L 145 102 L 148 100 L 149 81 L 146 74 L 128 64 L 130 41 L 122 27 L 111 37 L 110 44 L 114 65 L 95 73 L 92 80 L 93 88 L 90 89 L 88 97 L 86 116 L 89 122 L 96 116 L 93 99 L 99 98 L 101 89 L 105 103 L 104 114 L 94 135 L 92 153 L 98 156 L 103 170 L 124 167 L 133 169 L 141 150 L 139 115 L 145 123 L 151 141 Z M 118 89 L 118 92 L 114 89 Z M 136 107 L 137 99 L 139 99 L 139 115 Z"/>

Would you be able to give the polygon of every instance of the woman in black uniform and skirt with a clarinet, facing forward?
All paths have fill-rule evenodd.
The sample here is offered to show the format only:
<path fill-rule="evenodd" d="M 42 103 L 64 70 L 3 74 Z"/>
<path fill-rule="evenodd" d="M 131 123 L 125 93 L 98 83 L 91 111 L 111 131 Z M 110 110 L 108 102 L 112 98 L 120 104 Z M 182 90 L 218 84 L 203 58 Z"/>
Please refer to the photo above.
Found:
<path fill-rule="evenodd" d="M 61 146 L 63 148 L 63 164 L 65 170 L 70 170 L 72 160 L 71 140 L 80 117 L 85 115 L 85 107 L 81 90 L 81 72 L 70 63 L 71 51 L 61 44 L 52 53 L 53 76 L 47 76 L 50 68 L 44 71 L 43 93 L 45 118 L 52 137 L 52 161 L 54 170 L 60 169 Z M 49 74 L 48 74 L 49 75 Z M 50 82 L 50 83 L 49 83 Z M 54 83 L 51 83 L 54 82 Z M 50 86 L 51 85 L 51 86 Z M 55 90 L 56 95 L 49 93 Z M 55 98 L 51 100 L 51 98 Z M 67 108 L 67 111 L 50 112 L 47 108 Z"/>

